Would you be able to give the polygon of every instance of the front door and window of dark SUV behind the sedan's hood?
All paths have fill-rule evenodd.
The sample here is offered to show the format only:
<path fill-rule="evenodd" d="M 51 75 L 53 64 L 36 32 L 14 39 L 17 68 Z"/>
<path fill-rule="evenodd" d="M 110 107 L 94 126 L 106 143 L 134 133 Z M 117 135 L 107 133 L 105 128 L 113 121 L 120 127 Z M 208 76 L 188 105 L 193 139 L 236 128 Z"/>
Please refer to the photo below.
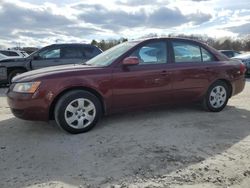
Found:
<path fill-rule="evenodd" d="M 32 69 L 61 65 L 61 47 L 52 46 L 39 51 L 31 61 Z"/>

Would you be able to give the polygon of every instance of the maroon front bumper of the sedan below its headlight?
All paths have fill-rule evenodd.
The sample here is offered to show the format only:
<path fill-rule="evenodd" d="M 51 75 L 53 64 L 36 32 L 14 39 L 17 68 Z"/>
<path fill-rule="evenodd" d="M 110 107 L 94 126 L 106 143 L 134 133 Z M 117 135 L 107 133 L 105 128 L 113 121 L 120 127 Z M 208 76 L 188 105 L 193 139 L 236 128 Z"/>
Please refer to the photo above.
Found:
<path fill-rule="evenodd" d="M 32 121 L 49 120 L 49 103 L 37 93 L 23 94 L 11 90 L 7 92 L 7 101 L 14 116 Z"/>

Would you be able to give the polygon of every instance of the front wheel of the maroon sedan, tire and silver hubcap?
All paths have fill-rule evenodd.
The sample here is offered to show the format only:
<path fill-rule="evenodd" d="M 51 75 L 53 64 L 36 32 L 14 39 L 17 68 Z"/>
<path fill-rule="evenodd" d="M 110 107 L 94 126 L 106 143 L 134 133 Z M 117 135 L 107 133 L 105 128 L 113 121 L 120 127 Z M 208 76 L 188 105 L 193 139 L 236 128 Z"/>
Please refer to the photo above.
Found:
<path fill-rule="evenodd" d="M 101 116 L 100 100 L 90 92 L 74 90 L 64 94 L 55 106 L 55 120 L 71 134 L 92 129 Z"/>

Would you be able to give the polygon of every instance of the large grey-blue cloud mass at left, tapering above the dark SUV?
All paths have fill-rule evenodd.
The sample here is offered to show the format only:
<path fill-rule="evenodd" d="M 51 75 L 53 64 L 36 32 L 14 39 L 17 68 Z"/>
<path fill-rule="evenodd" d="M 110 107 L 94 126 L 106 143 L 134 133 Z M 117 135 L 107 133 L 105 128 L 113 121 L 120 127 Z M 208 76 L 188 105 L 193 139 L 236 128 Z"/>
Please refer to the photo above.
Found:
<path fill-rule="evenodd" d="M 25 8 L 4 2 L 0 7 L 1 40 L 9 44 L 15 43 L 13 41 L 23 44 L 33 39 L 37 39 L 39 43 L 53 43 L 58 41 L 58 38 L 63 40 L 79 38 L 79 41 L 82 41 L 87 35 L 101 31 L 81 26 L 77 20 L 57 15 L 47 6 Z"/>

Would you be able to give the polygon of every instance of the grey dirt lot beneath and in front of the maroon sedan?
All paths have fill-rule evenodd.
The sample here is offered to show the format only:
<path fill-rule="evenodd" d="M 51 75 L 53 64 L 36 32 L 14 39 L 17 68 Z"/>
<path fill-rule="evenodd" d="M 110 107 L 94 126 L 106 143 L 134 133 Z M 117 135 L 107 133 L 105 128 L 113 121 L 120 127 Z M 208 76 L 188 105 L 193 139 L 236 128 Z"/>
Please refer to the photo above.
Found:
<path fill-rule="evenodd" d="M 250 186 L 249 79 L 223 112 L 113 115 L 81 135 L 14 118 L 0 90 L 1 188 Z"/>

